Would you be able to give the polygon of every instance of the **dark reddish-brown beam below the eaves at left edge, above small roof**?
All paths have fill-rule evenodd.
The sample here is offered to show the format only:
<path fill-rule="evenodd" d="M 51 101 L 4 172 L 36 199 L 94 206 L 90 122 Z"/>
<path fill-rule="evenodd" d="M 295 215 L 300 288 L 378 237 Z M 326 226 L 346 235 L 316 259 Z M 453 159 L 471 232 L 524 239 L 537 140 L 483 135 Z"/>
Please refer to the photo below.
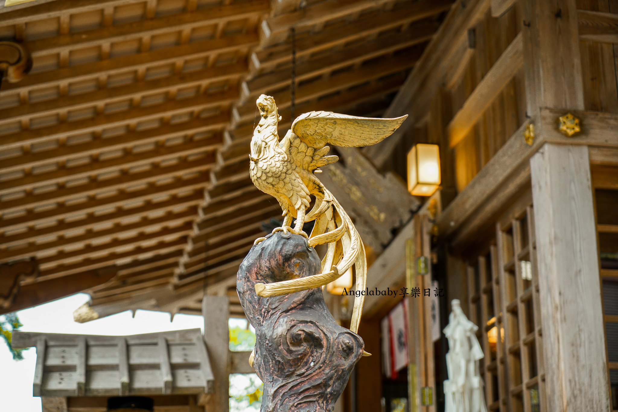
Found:
<path fill-rule="evenodd" d="M 116 275 L 115 265 L 77 272 L 59 279 L 43 280 L 23 285 L 8 308 L 0 308 L 0 314 L 31 308 L 52 300 L 74 295 L 96 285 L 104 284 Z M 42 371 L 41 371 L 42 372 Z"/>

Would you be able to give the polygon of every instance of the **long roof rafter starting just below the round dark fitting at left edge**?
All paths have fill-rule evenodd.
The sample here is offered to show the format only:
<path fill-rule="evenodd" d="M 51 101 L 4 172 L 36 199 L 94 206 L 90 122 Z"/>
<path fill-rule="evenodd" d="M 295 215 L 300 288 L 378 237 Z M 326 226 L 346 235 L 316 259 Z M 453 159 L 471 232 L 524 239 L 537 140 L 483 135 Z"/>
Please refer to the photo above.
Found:
<path fill-rule="evenodd" d="M 258 41 L 255 33 L 226 36 L 214 40 L 200 40 L 171 48 L 164 48 L 129 56 L 115 57 L 104 61 L 64 67 L 49 72 L 29 74 L 19 83 L 2 85 L 0 97 L 28 92 L 34 88 L 48 88 L 62 83 L 92 80 L 98 77 L 145 70 L 147 67 L 185 62 L 192 59 L 214 57 L 240 48 L 254 46 Z"/>

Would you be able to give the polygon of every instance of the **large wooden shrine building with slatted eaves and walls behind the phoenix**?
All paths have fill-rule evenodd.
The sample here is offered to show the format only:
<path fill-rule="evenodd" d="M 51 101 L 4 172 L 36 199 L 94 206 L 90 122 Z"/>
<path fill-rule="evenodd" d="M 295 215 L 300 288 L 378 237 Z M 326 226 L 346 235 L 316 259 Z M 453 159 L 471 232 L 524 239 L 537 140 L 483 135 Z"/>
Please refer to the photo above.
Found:
<path fill-rule="evenodd" d="M 479 327 L 488 410 L 618 411 L 617 47 L 616 0 L 0 0 L 0 61 L 32 61 L 0 64 L 0 313 L 86 292 L 80 322 L 226 327 L 210 314 L 244 316 L 235 274 L 281 214 L 248 175 L 255 99 L 274 96 L 281 136 L 292 112 L 407 114 L 332 148 L 320 179 L 368 290 L 444 296 L 366 296 L 373 356 L 337 412 L 443 411 L 452 299 Z M 407 190 L 418 144 L 439 147 L 431 196 Z M 353 296 L 324 293 L 345 326 Z M 395 376 L 381 322 L 402 300 Z M 190 406 L 227 411 L 233 356 L 205 342 L 220 387 Z"/>

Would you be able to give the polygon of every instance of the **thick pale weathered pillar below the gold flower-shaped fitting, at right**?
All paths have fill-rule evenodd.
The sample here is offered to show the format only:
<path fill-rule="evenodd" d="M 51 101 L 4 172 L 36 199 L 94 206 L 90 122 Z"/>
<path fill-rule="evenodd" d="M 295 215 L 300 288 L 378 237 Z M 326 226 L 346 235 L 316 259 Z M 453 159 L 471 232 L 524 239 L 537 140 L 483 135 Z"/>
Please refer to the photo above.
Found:
<path fill-rule="evenodd" d="M 548 411 L 609 411 L 587 146 L 530 159 Z"/>

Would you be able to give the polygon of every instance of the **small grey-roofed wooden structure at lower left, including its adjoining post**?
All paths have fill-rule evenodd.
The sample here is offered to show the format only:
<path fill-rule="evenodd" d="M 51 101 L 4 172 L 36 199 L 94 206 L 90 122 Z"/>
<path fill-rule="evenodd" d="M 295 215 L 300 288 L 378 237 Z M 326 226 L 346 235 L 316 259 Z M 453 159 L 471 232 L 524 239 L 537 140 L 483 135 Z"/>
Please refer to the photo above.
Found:
<path fill-rule="evenodd" d="M 227 401 L 227 374 L 253 372 L 250 352 L 224 346 L 227 329 L 218 326 L 227 326 L 226 300 L 206 298 L 206 310 L 218 306 L 206 322 L 207 337 L 200 329 L 128 336 L 18 331 L 12 344 L 36 348 L 33 395 L 43 412 L 104 411 L 108 397 L 127 395 L 152 397 L 155 411 L 203 411 L 219 397 Z"/>

